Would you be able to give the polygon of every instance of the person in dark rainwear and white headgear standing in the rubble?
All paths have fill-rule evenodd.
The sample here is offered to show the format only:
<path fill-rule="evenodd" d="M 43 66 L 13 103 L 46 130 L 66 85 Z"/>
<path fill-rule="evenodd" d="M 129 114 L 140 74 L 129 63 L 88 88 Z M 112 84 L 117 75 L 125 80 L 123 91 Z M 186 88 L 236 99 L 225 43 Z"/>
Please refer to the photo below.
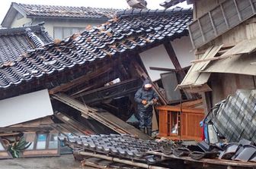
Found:
<path fill-rule="evenodd" d="M 151 136 L 153 111 L 152 105 L 158 101 L 158 95 L 156 94 L 155 90 L 152 89 L 152 83 L 150 80 L 144 81 L 142 88 L 136 92 L 134 100 L 138 103 L 139 129 L 143 133 L 146 133 L 147 131 L 147 134 Z"/>

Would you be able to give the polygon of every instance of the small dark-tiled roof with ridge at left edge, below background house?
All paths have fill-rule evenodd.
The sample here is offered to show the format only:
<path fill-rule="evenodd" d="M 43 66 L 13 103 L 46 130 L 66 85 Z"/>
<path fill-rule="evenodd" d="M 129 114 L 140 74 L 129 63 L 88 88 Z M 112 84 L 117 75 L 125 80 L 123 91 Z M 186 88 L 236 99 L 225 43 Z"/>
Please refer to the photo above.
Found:
<path fill-rule="evenodd" d="M 31 49 L 43 47 L 53 38 L 41 26 L 0 30 L 0 67 L 17 61 Z"/>

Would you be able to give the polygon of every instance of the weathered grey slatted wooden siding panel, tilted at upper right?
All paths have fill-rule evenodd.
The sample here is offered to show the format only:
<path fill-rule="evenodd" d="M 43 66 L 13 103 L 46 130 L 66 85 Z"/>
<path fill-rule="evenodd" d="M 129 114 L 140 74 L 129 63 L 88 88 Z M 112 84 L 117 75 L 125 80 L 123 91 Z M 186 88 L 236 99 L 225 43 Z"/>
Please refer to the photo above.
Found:
<path fill-rule="evenodd" d="M 204 2 L 197 2 L 197 9 L 203 4 Z M 205 12 L 207 10 L 209 12 L 203 14 L 202 17 L 197 17 L 197 20 L 189 25 L 190 39 L 194 49 L 216 39 L 239 23 L 254 16 L 256 14 L 255 7 L 256 0 L 226 0 L 211 11 L 207 7 L 203 7 Z"/>

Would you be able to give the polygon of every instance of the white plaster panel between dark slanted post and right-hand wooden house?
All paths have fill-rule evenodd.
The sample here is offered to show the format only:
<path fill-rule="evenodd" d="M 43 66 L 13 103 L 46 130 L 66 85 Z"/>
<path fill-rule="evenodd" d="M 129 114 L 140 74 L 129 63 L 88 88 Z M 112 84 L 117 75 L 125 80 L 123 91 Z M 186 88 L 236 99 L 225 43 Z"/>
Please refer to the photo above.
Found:
<path fill-rule="evenodd" d="M 191 65 L 190 61 L 195 59 L 193 47 L 189 36 L 183 36 L 181 39 L 174 39 L 171 42 L 172 48 L 181 64 L 181 67 L 188 67 Z"/>

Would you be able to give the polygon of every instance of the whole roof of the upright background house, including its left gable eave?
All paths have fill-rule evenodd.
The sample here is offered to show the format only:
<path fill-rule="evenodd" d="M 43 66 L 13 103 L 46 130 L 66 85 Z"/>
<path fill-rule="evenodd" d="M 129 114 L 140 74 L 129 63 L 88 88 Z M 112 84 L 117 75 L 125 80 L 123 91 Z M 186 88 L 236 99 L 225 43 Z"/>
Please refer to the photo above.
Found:
<path fill-rule="evenodd" d="M 15 17 L 19 11 L 28 18 L 70 18 L 70 19 L 104 19 L 107 20 L 116 14 L 120 9 L 113 8 L 91 8 L 72 7 L 59 5 L 28 5 L 21 3 L 11 3 L 8 13 L 2 21 L 2 27 L 9 27 L 10 17 Z"/>

